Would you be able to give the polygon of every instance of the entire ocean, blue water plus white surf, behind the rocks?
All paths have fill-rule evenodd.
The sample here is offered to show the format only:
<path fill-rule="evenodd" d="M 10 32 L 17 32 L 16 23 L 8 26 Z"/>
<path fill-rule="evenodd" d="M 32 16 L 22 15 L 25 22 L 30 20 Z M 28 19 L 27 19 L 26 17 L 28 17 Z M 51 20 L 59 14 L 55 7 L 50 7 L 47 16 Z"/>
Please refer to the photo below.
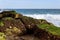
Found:
<path fill-rule="evenodd" d="M 35 19 L 45 19 L 48 22 L 60 27 L 60 9 L 1 9 L 15 10 L 24 16 L 33 17 Z M 1 12 L 0 10 L 0 12 Z"/>

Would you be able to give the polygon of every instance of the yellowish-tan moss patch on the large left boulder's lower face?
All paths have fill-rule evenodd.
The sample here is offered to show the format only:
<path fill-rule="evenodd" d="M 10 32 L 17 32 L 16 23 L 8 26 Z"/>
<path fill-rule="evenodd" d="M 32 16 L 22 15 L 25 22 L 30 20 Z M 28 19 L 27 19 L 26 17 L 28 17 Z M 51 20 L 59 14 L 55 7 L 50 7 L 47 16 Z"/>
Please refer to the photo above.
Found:
<path fill-rule="evenodd" d="M 17 28 L 17 27 L 13 27 L 13 28 L 6 28 L 5 30 L 5 34 L 7 35 L 13 35 L 13 34 L 20 34 L 22 31 Z"/>

